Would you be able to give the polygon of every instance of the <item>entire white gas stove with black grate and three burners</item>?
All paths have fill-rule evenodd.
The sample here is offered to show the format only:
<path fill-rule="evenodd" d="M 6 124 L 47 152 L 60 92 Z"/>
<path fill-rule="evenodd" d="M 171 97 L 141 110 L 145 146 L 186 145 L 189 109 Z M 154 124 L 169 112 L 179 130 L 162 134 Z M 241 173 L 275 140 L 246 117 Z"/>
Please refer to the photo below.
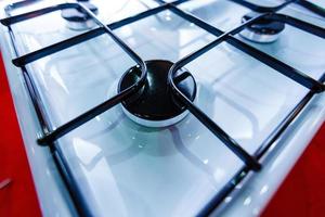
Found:
<path fill-rule="evenodd" d="M 8 3 L 44 216 L 257 216 L 324 122 L 324 1 Z"/>

